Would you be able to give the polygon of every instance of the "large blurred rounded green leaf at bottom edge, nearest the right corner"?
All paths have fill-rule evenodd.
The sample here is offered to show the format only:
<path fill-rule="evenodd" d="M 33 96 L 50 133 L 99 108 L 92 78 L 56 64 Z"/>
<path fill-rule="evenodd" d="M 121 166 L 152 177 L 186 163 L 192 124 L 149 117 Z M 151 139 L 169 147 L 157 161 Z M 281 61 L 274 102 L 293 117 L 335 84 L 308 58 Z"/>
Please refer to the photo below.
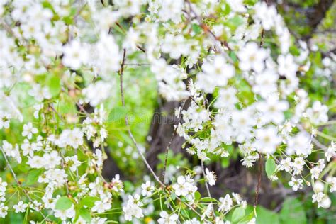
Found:
<path fill-rule="evenodd" d="M 284 224 L 307 223 L 301 201 L 293 197 L 286 198 L 280 211 L 280 220 Z"/>

